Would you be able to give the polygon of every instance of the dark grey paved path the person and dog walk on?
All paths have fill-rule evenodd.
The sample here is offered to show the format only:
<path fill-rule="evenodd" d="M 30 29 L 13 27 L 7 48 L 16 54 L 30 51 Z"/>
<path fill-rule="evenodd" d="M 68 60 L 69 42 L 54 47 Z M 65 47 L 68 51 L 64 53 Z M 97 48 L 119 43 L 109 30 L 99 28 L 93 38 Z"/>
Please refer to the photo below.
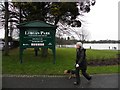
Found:
<path fill-rule="evenodd" d="M 3 76 L 3 88 L 118 88 L 118 74 L 93 75 L 91 81 L 81 76 L 81 85 L 68 76 Z M 120 79 L 119 79 L 120 81 Z"/>

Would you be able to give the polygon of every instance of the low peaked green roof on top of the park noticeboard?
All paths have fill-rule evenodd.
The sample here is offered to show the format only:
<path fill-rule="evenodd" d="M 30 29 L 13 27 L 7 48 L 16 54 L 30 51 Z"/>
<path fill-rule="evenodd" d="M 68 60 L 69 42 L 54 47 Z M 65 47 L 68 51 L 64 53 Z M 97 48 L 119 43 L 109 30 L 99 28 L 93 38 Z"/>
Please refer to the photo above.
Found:
<path fill-rule="evenodd" d="M 29 21 L 29 22 L 24 22 L 24 23 L 20 23 L 18 25 L 18 28 L 22 28 L 22 27 L 36 27 L 36 28 L 42 28 L 42 27 L 46 27 L 46 28 L 56 28 L 57 26 L 52 25 L 52 24 L 48 24 L 46 22 L 43 21 Z"/>

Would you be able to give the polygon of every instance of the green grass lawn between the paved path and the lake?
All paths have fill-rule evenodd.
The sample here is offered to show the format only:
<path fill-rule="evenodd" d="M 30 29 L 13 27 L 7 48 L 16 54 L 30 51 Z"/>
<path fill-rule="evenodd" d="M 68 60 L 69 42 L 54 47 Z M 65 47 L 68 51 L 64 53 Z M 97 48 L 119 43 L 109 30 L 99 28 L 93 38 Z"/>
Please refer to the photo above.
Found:
<path fill-rule="evenodd" d="M 33 49 L 24 51 L 23 63 L 20 64 L 19 50 L 10 51 L 10 56 L 2 58 L 3 74 L 30 74 L 30 75 L 60 75 L 65 69 L 74 69 L 75 64 L 74 48 L 57 48 L 56 64 L 53 64 L 52 51 L 49 50 L 48 57 L 34 56 Z M 118 51 L 113 50 L 87 50 L 87 60 L 113 59 L 117 57 Z M 91 74 L 118 73 L 118 65 L 112 66 L 88 66 L 88 72 Z"/>

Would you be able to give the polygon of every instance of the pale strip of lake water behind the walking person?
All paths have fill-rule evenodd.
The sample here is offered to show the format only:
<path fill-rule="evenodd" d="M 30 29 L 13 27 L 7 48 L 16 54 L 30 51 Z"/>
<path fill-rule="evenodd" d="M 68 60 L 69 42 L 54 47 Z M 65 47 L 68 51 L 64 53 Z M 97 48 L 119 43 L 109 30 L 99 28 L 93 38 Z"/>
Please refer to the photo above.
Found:
<path fill-rule="evenodd" d="M 57 45 L 59 47 L 59 45 Z M 60 45 L 60 47 L 73 48 L 75 45 Z M 99 49 L 99 50 L 120 50 L 118 43 L 85 43 L 83 47 L 86 49 Z"/>

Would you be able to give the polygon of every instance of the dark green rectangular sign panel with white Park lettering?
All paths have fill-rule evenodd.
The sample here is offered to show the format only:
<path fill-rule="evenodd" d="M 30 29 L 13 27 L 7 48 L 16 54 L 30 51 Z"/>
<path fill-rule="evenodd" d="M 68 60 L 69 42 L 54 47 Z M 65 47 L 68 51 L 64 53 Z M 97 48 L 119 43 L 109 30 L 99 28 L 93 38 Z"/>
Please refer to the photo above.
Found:
<path fill-rule="evenodd" d="M 24 30 L 22 36 L 22 47 L 52 47 L 53 34 L 46 30 Z"/>

